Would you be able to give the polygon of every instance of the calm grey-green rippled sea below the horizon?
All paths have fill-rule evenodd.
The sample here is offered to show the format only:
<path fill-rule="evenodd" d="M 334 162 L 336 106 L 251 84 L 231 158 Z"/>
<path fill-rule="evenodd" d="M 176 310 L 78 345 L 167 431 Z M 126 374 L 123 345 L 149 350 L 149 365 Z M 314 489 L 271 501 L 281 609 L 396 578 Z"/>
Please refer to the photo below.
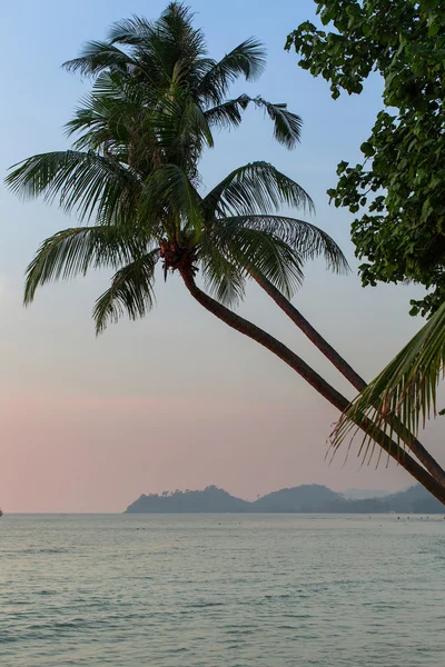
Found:
<path fill-rule="evenodd" d="M 445 520 L 8 516 L 2 667 L 443 667 Z"/>

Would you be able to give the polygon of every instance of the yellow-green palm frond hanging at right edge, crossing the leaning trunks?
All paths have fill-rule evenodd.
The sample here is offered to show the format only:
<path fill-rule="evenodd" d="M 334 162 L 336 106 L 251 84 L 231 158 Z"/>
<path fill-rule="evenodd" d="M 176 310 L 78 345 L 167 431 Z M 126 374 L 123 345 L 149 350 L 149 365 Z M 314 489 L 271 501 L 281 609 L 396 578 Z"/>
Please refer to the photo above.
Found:
<path fill-rule="evenodd" d="M 437 385 L 444 364 L 445 303 L 344 412 L 332 436 L 334 449 L 350 436 L 357 418 L 364 415 L 397 444 L 402 439 L 397 424 L 417 436 L 421 424 L 437 414 Z"/>

